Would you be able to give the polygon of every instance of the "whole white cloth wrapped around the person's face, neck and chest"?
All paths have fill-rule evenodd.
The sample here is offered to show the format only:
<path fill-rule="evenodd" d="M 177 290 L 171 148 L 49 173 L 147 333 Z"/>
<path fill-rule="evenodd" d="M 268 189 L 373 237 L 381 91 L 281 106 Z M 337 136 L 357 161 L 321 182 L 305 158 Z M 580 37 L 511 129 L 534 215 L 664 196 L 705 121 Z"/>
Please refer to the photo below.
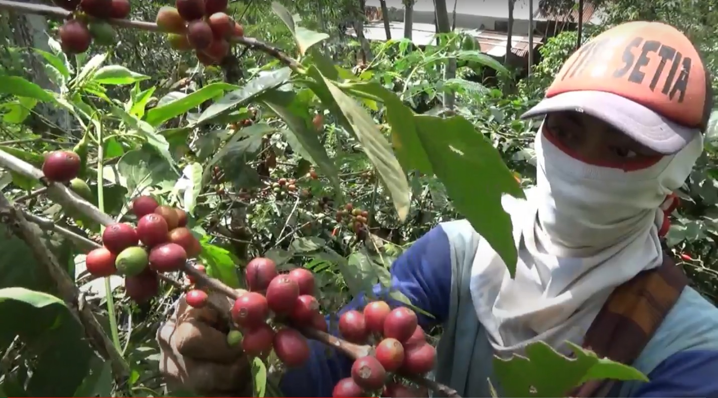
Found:
<path fill-rule="evenodd" d="M 696 136 L 656 165 L 625 172 L 587 165 L 537 134 L 536 187 L 527 200 L 503 200 L 518 247 L 516 278 L 485 242 L 472 266 L 472 300 L 494 348 L 516 353 L 540 340 L 564 351 L 564 341 L 582 343 L 610 292 L 662 263 L 661 203 L 702 148 Z"/>

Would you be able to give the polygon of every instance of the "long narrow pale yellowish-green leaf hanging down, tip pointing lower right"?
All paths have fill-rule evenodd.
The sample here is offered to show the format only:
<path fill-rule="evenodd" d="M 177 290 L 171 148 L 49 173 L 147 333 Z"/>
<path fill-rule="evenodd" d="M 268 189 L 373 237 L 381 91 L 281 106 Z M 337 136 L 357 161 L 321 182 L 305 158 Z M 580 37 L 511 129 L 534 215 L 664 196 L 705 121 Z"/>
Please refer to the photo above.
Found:
<path fill-rule="evenodd" d="M 391 194 L 399 220 L 404 221 L 409 214 L 411 190 L 409 181 L 406 180 L 406 174 L 394 156 L 391 145 L 386 141 L 376 123 L 364 108 L 359 106 L 353 98 L 346 95 L 334 83 L 327 80 L 316 68 L 312 68 L 312 71 L 314 71 L 314 75 L 318 74 L 320 76 L 317 80 L 321 79 L 324 87 L 332 96 L 331 100 L 336 103 L 351 131 L 362 144 L 364 152 L 376 167 L 384 185 L 386 185 Z M 317 93 L 317 95 L 319 96 L 320 93 Z M 325 102 L 325 98 L 322 98 L 322 102 Z"/>

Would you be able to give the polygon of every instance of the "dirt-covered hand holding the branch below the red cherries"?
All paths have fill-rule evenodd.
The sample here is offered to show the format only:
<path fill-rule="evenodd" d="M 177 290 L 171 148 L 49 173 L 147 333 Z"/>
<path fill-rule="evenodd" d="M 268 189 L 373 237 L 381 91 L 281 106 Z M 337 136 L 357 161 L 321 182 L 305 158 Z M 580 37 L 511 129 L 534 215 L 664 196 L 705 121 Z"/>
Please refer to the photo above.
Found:
<path fill-rule="evenodd" d="M 210 299 L 229 313 L 227 297 Z M 172 318 L 157 331 L 159 370 L 169 389 L 190 389 L 209 397 L 247 397 L 251 370 L 241 345 L 229 346 L 227 327 L 219 314 L 207 307 L 192 308 L 182 296 Z"/>

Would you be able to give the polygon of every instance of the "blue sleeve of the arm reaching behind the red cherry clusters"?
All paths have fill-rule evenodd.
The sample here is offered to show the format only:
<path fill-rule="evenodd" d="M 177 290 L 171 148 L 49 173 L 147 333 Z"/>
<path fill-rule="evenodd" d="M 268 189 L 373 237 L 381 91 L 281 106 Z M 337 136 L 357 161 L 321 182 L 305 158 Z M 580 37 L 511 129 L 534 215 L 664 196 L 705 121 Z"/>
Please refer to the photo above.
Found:
<path fill-rule="evenodd" d="M 396 259 L 390 269 L 391 286 L 387 289 L 376 285 L 374 295 L 396 306 L 402 303 L 390 299 L 388 292 L 403 293 L 412 305 L 433 316 L 417 313 L 419 324 L 424 328 L 444 322 L 449 314 L 451 252 L 449 238 L 442 227 L 433 228 Z M 339 315 L 348 310 L 361 310 L 367 301 L 365 295 L 359 295 L 342 308 Z M 337 330 L 330 332 L 339 334 Z M 310 340 L 309 347 L 312 354 L 307 364 L 289 369 L 281 379 L 280 389 L 285 397 L 331 397 L 337 381 L 350 375 L 350 358 L 319 341 Z"/>

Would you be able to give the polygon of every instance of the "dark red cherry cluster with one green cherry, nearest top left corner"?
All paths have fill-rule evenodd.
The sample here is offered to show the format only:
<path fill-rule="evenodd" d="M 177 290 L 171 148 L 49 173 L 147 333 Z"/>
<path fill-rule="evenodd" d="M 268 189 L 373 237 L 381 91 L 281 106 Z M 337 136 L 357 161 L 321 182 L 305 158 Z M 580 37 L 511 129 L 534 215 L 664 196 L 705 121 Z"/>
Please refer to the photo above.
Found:
<path fill-rule="evenodd" d="M 68 54 L 80 54 L 98 45 L 115 45 L 117 37 L 107 19 L 125 19 L 130 14 L 129 0 L 55 0 L 55 4 L 73 11 L 60 27 L 60 45 Z"/>

